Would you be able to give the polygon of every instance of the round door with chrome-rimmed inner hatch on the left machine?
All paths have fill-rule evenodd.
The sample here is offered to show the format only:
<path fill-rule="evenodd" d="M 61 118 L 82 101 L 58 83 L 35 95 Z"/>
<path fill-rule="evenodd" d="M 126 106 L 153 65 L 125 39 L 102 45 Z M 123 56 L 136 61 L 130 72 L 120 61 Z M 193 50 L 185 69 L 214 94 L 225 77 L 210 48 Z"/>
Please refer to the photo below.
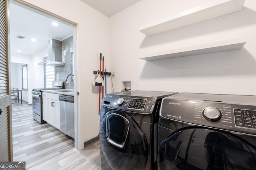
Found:
<path fill-rule="evenodd" d="M 132 117 L 122 111 L 112 110 L 102 117 L 100 149 L 101 157 L 104 156 L 112 169 L 144 169 L 146 166 L 146 136 Z"/>

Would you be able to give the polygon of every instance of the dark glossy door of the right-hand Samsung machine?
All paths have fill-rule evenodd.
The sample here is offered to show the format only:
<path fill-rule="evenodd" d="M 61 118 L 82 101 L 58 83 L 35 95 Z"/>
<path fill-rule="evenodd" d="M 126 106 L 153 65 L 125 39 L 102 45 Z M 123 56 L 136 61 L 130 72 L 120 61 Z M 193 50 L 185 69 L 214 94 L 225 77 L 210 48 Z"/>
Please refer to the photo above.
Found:
<path fill-rule="evenodd" d="M 164 133 L 165 129 L 159 127 L 159 130 Z M 256 167 L 255 148 L 223 131 L 189 128 L 160 140 L 158 169 L 255 170 Z"/>

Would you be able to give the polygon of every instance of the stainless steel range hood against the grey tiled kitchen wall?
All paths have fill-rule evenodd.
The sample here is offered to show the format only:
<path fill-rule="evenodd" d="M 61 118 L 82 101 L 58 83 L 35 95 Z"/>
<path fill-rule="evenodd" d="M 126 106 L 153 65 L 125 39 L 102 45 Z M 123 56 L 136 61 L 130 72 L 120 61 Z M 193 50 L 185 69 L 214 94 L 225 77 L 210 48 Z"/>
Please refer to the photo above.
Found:
<path fill-rule="evenodd" d="M 54 39 L 48 41 L 48 58 L 46 57 L 46 59 L 38 63 L 38 65 L 47 65 L 54 67 L 65 65 L 65 63 L 62 62 L 61 41 Z"/>

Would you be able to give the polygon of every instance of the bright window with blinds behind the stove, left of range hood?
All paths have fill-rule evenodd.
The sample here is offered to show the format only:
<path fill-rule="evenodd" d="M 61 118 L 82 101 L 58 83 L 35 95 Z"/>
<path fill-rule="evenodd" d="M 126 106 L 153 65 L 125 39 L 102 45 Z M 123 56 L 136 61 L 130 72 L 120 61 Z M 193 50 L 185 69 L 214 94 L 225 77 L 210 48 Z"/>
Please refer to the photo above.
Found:
<path fill-rule="evenodd" d="M 55 80 L 55 67 L 44 65 L 44 88 L 51 88 Z"/>

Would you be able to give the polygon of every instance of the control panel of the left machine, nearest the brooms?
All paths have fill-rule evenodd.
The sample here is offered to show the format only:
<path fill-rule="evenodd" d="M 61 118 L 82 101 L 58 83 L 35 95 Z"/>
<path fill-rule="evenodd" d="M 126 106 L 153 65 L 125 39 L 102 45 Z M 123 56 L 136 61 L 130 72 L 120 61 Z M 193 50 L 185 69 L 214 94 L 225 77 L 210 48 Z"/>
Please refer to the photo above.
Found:
<path fill-rule="evenodd" d="M 113 109 L 150 114 L 156 99 L 156 97 L 106 94 L 101 105 Z"/>

